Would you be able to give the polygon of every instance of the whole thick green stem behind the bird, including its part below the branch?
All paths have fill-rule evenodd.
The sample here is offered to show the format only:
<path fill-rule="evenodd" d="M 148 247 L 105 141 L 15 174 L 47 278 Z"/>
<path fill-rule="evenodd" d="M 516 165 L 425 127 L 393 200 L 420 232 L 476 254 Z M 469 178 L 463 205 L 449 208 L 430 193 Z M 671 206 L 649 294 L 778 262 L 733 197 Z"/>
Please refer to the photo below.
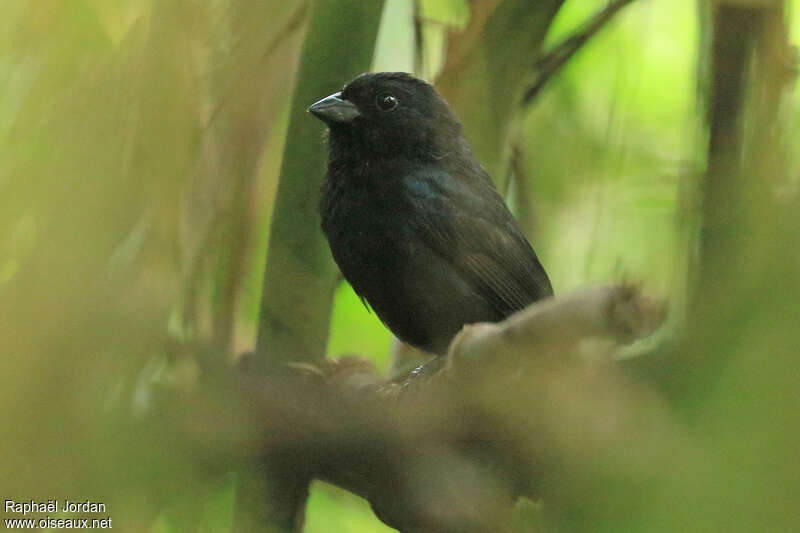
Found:
<path fill-rule="evenodd" d="M 383 2 L 312 5 L 270 229 L 253 370 L 325 357 L 337 269 L 318 212 L 324 127 L 306 107 L 369 69 Z M 234 531 L 299 530 L 310 483 L 303 465 L 280 453 L 259 466 L 242 472 Z"/>

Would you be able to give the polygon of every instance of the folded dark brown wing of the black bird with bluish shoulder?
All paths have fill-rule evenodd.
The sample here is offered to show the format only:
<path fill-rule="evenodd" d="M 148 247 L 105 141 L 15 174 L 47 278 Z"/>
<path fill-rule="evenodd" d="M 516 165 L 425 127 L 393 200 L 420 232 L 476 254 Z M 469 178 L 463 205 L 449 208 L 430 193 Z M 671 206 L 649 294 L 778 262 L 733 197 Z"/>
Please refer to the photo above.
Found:
<path fill-rule="evenodd" d="M 553 289 L 513 215 L 484 177 L 430 168 L 409 176 L 412 224 L 423 242 L 507 316 Z"/>

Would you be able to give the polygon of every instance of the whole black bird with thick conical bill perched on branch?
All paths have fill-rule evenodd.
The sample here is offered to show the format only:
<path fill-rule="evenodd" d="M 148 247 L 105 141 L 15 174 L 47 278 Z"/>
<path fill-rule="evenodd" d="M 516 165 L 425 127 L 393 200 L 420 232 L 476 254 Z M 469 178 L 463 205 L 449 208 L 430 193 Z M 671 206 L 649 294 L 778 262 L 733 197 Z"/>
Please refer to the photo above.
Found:
<path fill-rule="evenodd" d="M 333 258 L 401 340 L 444 353 L 465 324 L 553 294 L 431 85 L 362 74 L 308 111 L 330 129 L 320 212 Z"/>

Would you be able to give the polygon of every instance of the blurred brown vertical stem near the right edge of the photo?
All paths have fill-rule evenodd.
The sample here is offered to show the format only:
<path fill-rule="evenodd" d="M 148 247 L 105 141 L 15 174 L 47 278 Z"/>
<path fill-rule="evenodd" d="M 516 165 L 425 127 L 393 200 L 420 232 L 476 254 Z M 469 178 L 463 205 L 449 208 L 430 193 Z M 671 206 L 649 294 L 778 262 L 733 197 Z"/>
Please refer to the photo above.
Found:
<path fill-rule="evenodd" d="M 700 65 L 709 80 L 700 257 L 691 275 L 686 342 L 656 371 L 675 403 L 690 408 L 713 388 L 727 363 L 722 355 L 736 353 L 764 297 L 774 256 L 769 247 L 776 242 L 772 171 L 780 166 L 777 109 L 785 88 L 774 65 L 783 64 L 779 57 L 788 50 L 785 31 L 776 33 L 776 24 L 783 28 L 782 2 L 705 6 L 711 8 L 711 44 L 708 65 Z"/>

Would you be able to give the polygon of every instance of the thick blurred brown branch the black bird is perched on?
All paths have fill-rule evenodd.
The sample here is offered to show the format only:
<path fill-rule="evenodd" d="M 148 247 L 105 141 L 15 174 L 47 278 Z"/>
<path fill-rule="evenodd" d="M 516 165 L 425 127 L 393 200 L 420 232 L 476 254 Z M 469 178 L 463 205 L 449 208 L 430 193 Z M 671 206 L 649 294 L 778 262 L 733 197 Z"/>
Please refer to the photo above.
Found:
<path fill-rule="evenodd" d="M 669 466 L 653 460 L 663 446 L 670 458 L 688 449 L 652 391 L 616 365 L 571 355 L 587 339 L 629 342 L 662 318 L 663 306 L 635 288 L 599 287 L 467 327 L 442 371 L 400 382 L 383 382 L 355 358 L 243 372 L 233 413 L 219 413 L 218 402 L 203 395 L 224 423 L 192 417 L 195 433 L 210 427 L 221 435 L 192 440 L 207 446 L 234 435 L 223 449 L 261 465 L 262 485 L 273 482 L 276 468 L 295 480 L 318 477 L 367 498 L 401 531 L 502 532 L 520 494 L 547 493 L 542 487 L 562 475 L 589 475 L 582 472 L 595 457 L 585 456 L 587 447 L 602 461 L 627 465 L 635 443 L 638 462 L 627 468 L 642 475 Z M 594 416 L 612 417 L 614 430 L 582 422 Z M 277 488 L 265 487 L 269 494 Z M 296 494 L 304 493 L 277 497 Z"/>

